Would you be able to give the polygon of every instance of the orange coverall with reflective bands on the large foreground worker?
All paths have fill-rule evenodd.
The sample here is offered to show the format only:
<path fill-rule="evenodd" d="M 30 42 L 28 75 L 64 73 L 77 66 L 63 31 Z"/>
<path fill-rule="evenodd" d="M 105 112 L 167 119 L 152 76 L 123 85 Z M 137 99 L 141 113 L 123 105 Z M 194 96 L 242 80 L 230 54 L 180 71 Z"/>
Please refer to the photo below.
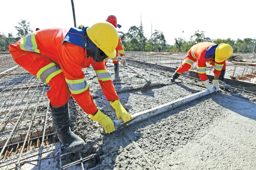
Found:
<path fill-rule="evenodd" d="M 68 42 L 62 45 L 67 32 L 56 27 L 38 30 L 10 44 L 9 52 L 17 64 L 51 87 L 47 97 L 52 107 L 63 106 L 72 94 L 79 106 L 92 114 L 97 107 L 82 68 L 92 65 L 107 100 L 119 98 L 103 61 L 95 62 L 87 57 L 87 51 L 80 46 Z"/>

